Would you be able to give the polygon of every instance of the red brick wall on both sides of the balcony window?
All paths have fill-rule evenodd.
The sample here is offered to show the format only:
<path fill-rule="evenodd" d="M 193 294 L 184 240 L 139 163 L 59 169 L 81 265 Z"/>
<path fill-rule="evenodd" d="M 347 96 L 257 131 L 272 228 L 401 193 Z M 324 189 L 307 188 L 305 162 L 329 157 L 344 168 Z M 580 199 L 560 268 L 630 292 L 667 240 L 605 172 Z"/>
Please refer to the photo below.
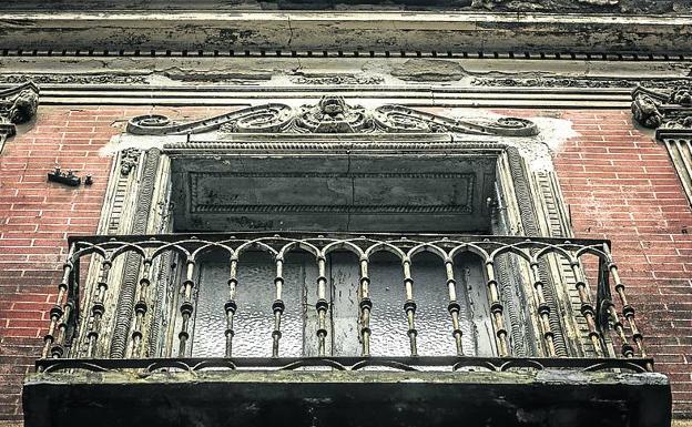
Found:
<path fill-rule="evenodd" d="M 126 118 L 149 111 L 41 108 L 37 124 L 0 155 L 0 423 L 21 423 L 21 382 L 40 352 L 64 238 L 96 228 L 110 166 L 99 149 Z M 629 111 L 556 114 L 580 133 L 556 156 L 577 235 L 613 241 L 645 344 L 673 383 L 675 410 L 692 415 L 692 211 L 668 154 L 632 126 Z M 93 175 L 94 185 L 47 183 L 55 163 Z"/>

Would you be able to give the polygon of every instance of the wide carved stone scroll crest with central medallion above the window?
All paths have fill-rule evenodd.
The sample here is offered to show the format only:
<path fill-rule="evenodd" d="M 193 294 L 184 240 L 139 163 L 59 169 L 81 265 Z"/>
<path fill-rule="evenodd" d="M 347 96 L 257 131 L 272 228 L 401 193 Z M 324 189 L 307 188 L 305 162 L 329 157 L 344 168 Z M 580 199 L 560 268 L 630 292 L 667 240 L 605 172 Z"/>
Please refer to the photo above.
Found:
<path fill-rule="evenodd" d="M 468 133 L 477 135 L 535 136 L 538 128 L 516 118 L 449 119 L 400 105 L 366 109 L 349 105 L 342 96 L 323 96 L 315 104 L 292 108 L 269 103 L 187 123 L 172 123 L 163 115 L 140 115 L 128 123 L 136 135 L 222 133 Z"/>

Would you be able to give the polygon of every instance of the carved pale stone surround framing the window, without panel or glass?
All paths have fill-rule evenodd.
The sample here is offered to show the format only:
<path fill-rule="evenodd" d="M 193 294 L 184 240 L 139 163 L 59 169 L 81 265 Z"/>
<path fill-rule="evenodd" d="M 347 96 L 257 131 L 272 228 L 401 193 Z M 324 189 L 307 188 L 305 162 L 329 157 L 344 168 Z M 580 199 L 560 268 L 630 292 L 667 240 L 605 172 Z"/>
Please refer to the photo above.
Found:
<path fill-rule="evenodd" d="M 255 109 L 255 112 L 256 110 L 260 109 Z M 301 113 L 309 113 L 309 109 L 299 111 Z M 401 112 L 396 108 L 385 111 Z M 356 113 L 358 112 L 356 111 Z M 496 215 L 498 220 L 493 225 L 495 230 L 512 235 L 566 237 L 571 235 L 571 227 L 561 202 L 554 175 L 549 171 L 532 171 L 527 156 L 522 155 L 520 149 L 513 146 L 516 145 L 515 141 L 511 141 L 513 138 L 487 135 L 487 126 L 470 126 L 470 131 L 469 129 L 457 128 L 452 129 L 455 132 L 449 132 L 449 129 L 440 128 L 452 124 L 458 125 L 460 122 L 432 116 L 427 113 L 418 115 L 415 111 L 413 112 L 414 118 L 424 116 L 426 120 L 431 119 L 430 121 L 424 120 L 423 123 L 415 123 L 415 125 L 424 125 L 426 133 L 420 131 L 415 133 L 383 133 L 381 131 L 353 133 L 349 132 L 354 130 L 354 126 L 350 124 L 347 126 L 339 123 L 336 123 L 336 126 L 334 126 L 334 123 L 329 123 L 327 126 L 323 123 L 315 124 L 315 122 L 319 122 L 319 119 L 312 122 L 313 128 L 311 129 L 313 133 L 308 134 L 299 132 L 286 133 L 286 129 L 283 129 L 282 132 L 236 133 L 237 126 L 232 126 L 228 133 L 210 131 L 210 120 L 203 120 L 192 124 L 176 125 L 180 126 L 176 129 L 177 132 L 156 136 L 132 135 L 132 133 L 142 133 L 139 132 L 141 128 L 135 128 L 141 124 L 141 120 L 133 121 L 134 126 L 131 125 L 129 129 L 131 134 L 123 135 L 120 139 L 121 143 L 126 146 L 135 146 L 138 141 L 141 141 L 141 146 L 155 144 L 159 148 L 142 152 L 130 149 L 119 153 L 113 164 L 112 180 L 104 205 L 100 233 L 154 234 L 173 231 L 171 211 L 174 207 L 171 206 L 170 202 L 171 193 L 175 189 L 171 180 L 172 162 L 185 162 L 194 157 L 215 159 L 223 162 L 224 157 L 251 159 L 266 156 L 267 154 L 299 157 L 318 154 L 334 156 L 347 153 L 348 155 L 362 154 L 367 156 L 474 154 L 493 157 L 497 162 L 496 193 L 498 195 L 495 209 L 499 212 Z M 272 115 L 272 118 L 275 116 Z M 405 115 L 404 118 L 410 115 Z M 342 120 L 342 123 L 348 123 L 348 120 L 354 118 L 357 123 L 363 123 L 357 121 L 358 114 L 353 116 L 346 114 L 345 118 L 346 120 Z M 153 126 L 165 128 L 170 125 L 164 118 L 154 116 L 146 118 L 146 120 Z M 330 122 L 334 122 L 334 120 Z M 275 123 L 269 124 L 275 126 Z M 216 126 L 214 124 L 217 130 L 220 128 L 223 129 L 223 125 L 218 124 Z M 291 123 L 289 125 L 291 129 L 296 129 L 294 128 L 295 124 Z M 303 130 L 305 128 L 309 126 L 298 126 L 298 129 Z M 336 129 L 339 133 L 315 132 L 316 130 L 324 131 L 325 129 L 327 132 Z M 273 130 L 276 130 L 276 128 Z M 347 132 L 344 133 L 344 130 Z M 464 133 L 465 131 L 468 133 Z M 480 135 L 474 136 L 474 133 L 480 133 Z M 519 140 L 522 140 L 522 143 L 539 144 L 531 135 L 521 136 Z M 552 201 L 551 204 L 547 203 L 548 199 Z M 560 225 L 557 228 L 554 225 L 551 225 L 554 222 L 549 221 L 550 215 L 558 218 Z M 152 307 L 155 315 L 162 319 L 175 318 L 175 304 L 169 301 L 172 289 L 165 288 L 165 277 L 170 275 L 166 271 L 171 271 L 173 263 L 174 260 L 164 260 L 160 265 L 155 266 L 159 277 L 163 279 L 160 281 L 162 285 L 153 292 L 157 304 L 152 304 Z M 125 260 L 120 265 L 114 265 L 113 271 L 120 272 L 123 277 L 121 286 L 131 286 L 134 289 L 139 273 L 136 267 L 133 268 L 132 266 L 139 264 L 139 260 Z M 579 334 L 583 334 L 583 327 L 574 322 L 576 316 L 572 313 L 578 307 L 574 306 L 573 298 L 568 292 L 574 278 L 569 277 L 563 266 L 554 263 L 549 262 L 541 267 L 546 281 L 551 283 L 551 288 L 554 289 L 551 296 L 554 298 L 553 304 L 558 308 L 553 319 L 556 322 L 554 328 L 559 331 L 562 340 L 559 352 L 573 356 L 589 354 L 591 350 L 588 347 L 582 347 L 581 344 L 578 344 L 582 339 L 576 338 Z M 95 277 L 95 271 L 90 272 L 90 277 Z M 503 277 L 503 281 L 510 283 L 511 277 Z M 119 283 L 120 281 L 113 282 Z M 92 296 L 89 294 L 89 289 L 93 289 L 93 286 L 88 285 L 85 289 L 88 289 L 86 301 L 90 301 Z M 128 295 L 126 292 L 119 293 L 118 289 L 114 289 L 113 295 L 118 294 Z M 112 327 L 103 328 L 105 334 L 100 345 L 103 347 L 103 352 L 109 353 L 111 357 L 123 357 L 128 353 L 126 337 L 130 334 L 131 325 L 123 319 L 131 317 L 125 315 L 133 305 L 134 294 L 130 294 L 131 297 L 125 298 L 125 301 L 121 297 L 121 301 L 112 302 L 113 304 L 118 303 L 119 307 L 123 307 L 122 313 L 119 313 L 118 318 L 106 319 L 106 324 L 110 323 Z M 516 315 L 521 316 L 521 313 L 517 312 Z M 88 319 L 84 321 L 84 324 L 80 327 L 81 331 L 88 331 Z M 529 319 L 528 322 L 535 321 Z M 175 347 L 174 334 L 169 331 L 173 324 L 174 322 L 166 324 L 164 321 L 157 327 L 146 332 L 149 342 L 147 354 L 150 356 L 165 356 L 166 348 Z M 533 324 L 532 329 L 539 331 L 536 324 Z M 80 343 L 83 343 L 83 340 L 80 339 Z M 536 352 L 540 354 L 542 352 L 539 349 L 541 344 L 537 338 L 527 342 L 527 345 L 529 348 L 518 347 L 515 350 L 517 354 L 522 352 L 525 354 Z M 533 347 L 533 349 L 530 349 L 530 347 Z M 73 350 L 81 352 L 83 349 L 73 348 Z"/>

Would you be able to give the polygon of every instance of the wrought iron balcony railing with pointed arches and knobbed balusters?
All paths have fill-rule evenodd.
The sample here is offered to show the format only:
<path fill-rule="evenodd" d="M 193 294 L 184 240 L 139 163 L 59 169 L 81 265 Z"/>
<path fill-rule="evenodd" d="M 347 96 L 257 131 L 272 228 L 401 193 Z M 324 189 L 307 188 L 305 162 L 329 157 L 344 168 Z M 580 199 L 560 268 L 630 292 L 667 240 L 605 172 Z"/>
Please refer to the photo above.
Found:
<path fill-rule="evenodd" d="M 227 256 L 228 277 L 224 286 L 227 287 L 225 301 L 218 301 L 218 311 L 225 318 L 225 349 L 217 357 L 200 358 L 183 357 L 189 355 L 191 342 L 191 323 L 196 308 L 195 289 L 200 286 L 200 260 L 208 252 L 222 252 Z M 273 299 L 267 301 L 267 312 L 272 313 L 271 333 L 272 357 L 235 357 L 235 316 L 238 309 L 236 291 L 238 283 L 238 266 L 250 252 L 265 252 L 271 254 L 274 268 Z M 314 258 L 316 265 L 316 302 L 309 309 L 316 315 L 316 327 L 313 331 L 316 342 L 316 356 L 286 357 L 282 354 L 282 317 L 286 309 L 282 298 L 286 284 L 284 278 L 284 263 L 286 255 L 294 251 L 302 251 Z M 403 301 L 400 316 L 405 318 L 408 338 L 408 354 L 395 357 L 377 357 L 370 354 L 373 334 L 387 334 L 387 331 L 372 331 L 370 318 L 373 307 L 377 301 L 370 294 L 370 260 L 379 252 L 394 254 L 401 266 Z M 330 301 L 327 292 L 327 257 L 336 252 L 350 252 L 357 257 L 357 309 L 354 314 L 354 324 L 357 324 L 359 355 L 336 357 L 330 355 L 326 346 L 328 334 L 328 313 Z M 439 266 L 444 270 L 445 298 L 447 299 L 448 319 L 439 328 L 449 332 L 452 340 L 454 354 L 439 357 L 420 356 L 418 354 L 418 331 L 416 285 L 413 278 L 415 260 L 420 253 L 427 252 L 439 258 Z M 99 352 L 99 339 L 106 333 L 103 319 L 108 311 L 118 307 L 113 302 L 118 295 L 109 294 L 110 288 L 118 288 L 110 283 L 113 279 L 113 270 L 116 263 L 133 254 L 136 260 L 134 304 L 131 311 L 131 325 L 126 336 L 129 350 L 123 358 L 113 358 Z M 493 331 L 493 355 L 491 357 L 476 357 L 467 354 L 462 339 L 464 331 L 460 327 L 460 289 L 455 277 L 455 260 L 460 254 L 472 254 L 479 261 L 485 276 L 487 295 L 487 316 Z M 176 309 L 174 338 L 177 347 L 176 357 L 149 357 L 143 350 L 143 336 L 155 315 L 151 306 L 155 296 L 152 295 L 152 284 L 160 276 L 155 274 L 161 268 L 161 258 L 173 256 L 176 261 L 177 273 L 173 282 L 177 287 L 175 298 Z M 521 272 L 510 272 L 521 275 L 528 281 L 527 286 L 532 294 L 526 306 L 530 307 L 529 315 L 537 325 L 537 335 L 541 340 L 541 354 L 536 357 L 519 357 L 512 355 L 509 334 L 509 321 L 506 315 L 505 302 L 499 277 L 501 257 L 511 256 Z M 587 264 L 598 264 L 598 274 L 588 281 L 584 274 Z M 92 275 L 96 279 L 85 281 L 92 286 L 89 298 L 81 298 L 84 289 L 80 286 L 80 263 L 89 260 Z M 576 291 L 579 299 L 577 316 L 582 317 L 586 325 L 586 340 L 592 346 L 594 357 L 574 358 L 559 357 L 556 350 L 554 325 L 550 322 L 551 313 L 557 309 L 547 297 L 548 284 L 541 278 L 541 265 L 548 258 L 557 260 L 572 275 L 570 286 Z M 122 265 L 121 265 L 122 267 Z M 522 273 L 523 272 L 523 273 Z M 119 276 L 121 277 L 121 276 Z M 83 279 L 83 277 L 82 277 Z M 440 284 L 442 285 L 442 284 Z M 612 296 L 615 296 L 613 298 Z M 84 299 L 84 301 L 81 301 Z M 110 302 L 110 303 L 109 303 Z M 80 305 L 88 305 L 80 307 Z M 112 316 L 111 316 L 112 317 Z M 82 331 L 79 331 L 79 329 Z M 105 334 L 109 335 L 109 334 Z M 269 338 L 269 337 L 266 337 Z M 262 339 L 262 337 L 257 337 Z M 451 343 L 450 343 L 451 344 Z M 78 350 L 81 348 L 81 350 Z M 619 348 L 615 350 L 614 348 Z M 81 353 L 80 353 L 81 352 Z M 435 235 L 435 234 L 329 234 L 316 233 L 199 233 L 199 234 L 169 234 L 169 235 L 128 235 L 128 236 L 74 236 L 69 240 L 69 254 L 63 266 L 62 281 L 58 286 L 55 305 L 50 312 L 50 326 L 44 337 L 42 358 L 37 367 L 43 372 L 62 368 L 88 368 L 94 370 L 111 368 L 146 368 L 182 367 L 196 369 L 204 367 L 266 367 L 266 368 L 296 368 L 303 366 L 329 366 L 336 369 L 358 369 L 370 365 L 415 369 L 416 366 L 448 366 L 452 369 L 477 366 L 495 370 L 510 367 L 574 367 L 574 368 L 630 368 L 638 372 L 652 370 L 652 360 L 648 358 L 643 347 L 643 337 L 637 326 L 634 308 L 629 304 L 624 285 L 618 267 L 610 253 L 610 242 L 602 240 L 564 240 L 543 237 L 510 237 L 510 236 L 469 236 L 469 235 Z"/>

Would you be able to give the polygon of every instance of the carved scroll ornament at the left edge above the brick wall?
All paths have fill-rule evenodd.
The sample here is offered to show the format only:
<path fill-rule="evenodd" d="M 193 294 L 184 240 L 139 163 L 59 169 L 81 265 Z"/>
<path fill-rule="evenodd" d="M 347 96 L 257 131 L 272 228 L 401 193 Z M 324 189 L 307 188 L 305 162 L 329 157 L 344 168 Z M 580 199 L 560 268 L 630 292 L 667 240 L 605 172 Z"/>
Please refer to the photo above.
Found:
<path fill-rule="evenodd" d="M 17 124 L 31 121 L 39 108 L 39 87 L 32 82 L 0 90 L 0 153 L 4 141 L 17 134 Z"/>

